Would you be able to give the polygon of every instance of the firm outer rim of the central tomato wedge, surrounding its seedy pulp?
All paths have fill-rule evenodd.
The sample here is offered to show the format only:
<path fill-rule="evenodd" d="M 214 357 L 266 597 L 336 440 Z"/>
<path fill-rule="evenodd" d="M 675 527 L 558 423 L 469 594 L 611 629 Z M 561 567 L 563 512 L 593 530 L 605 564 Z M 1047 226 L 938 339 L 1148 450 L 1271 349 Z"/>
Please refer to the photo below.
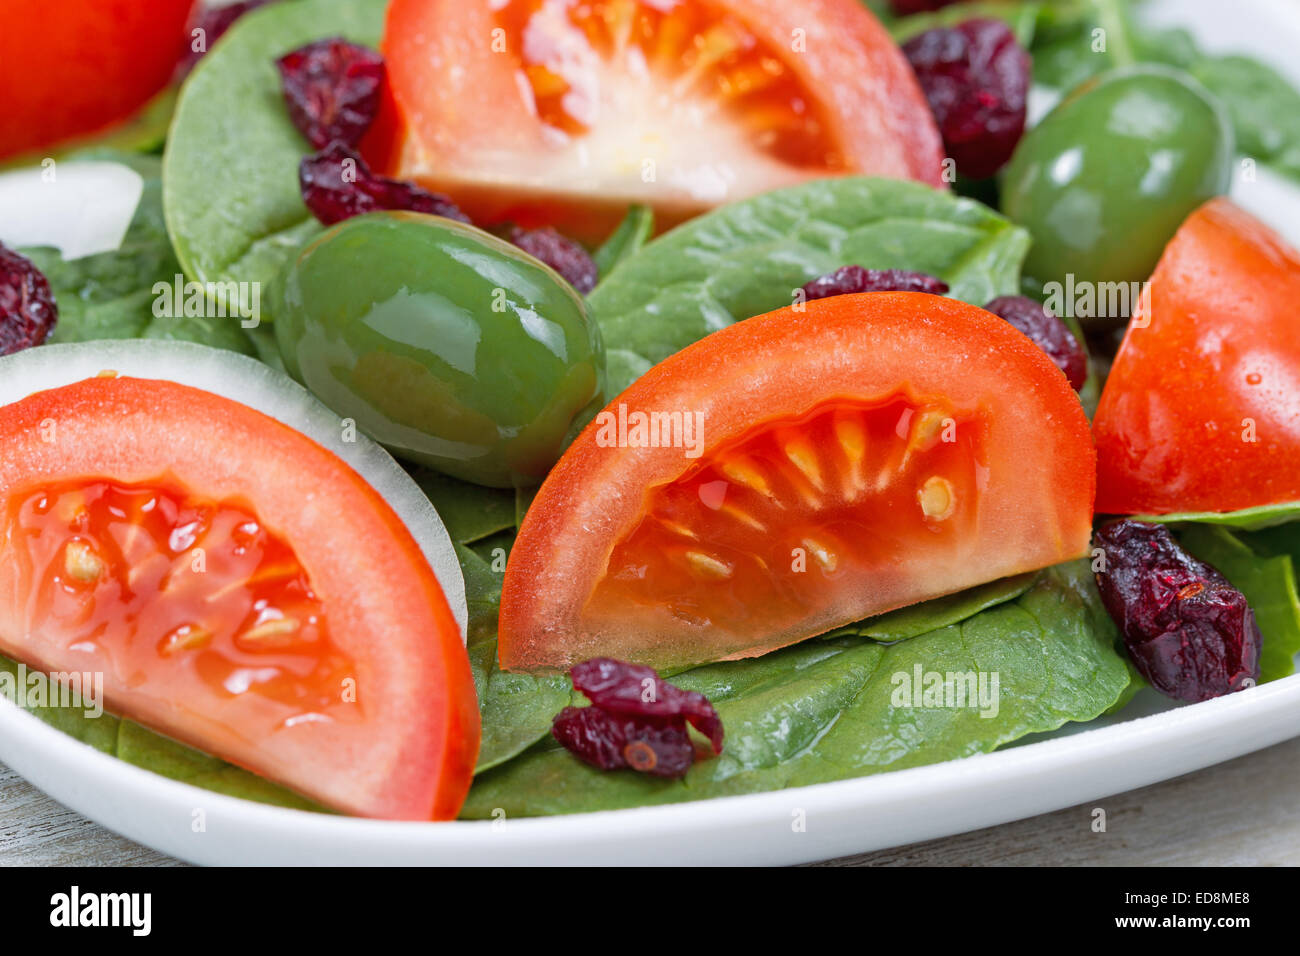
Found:
<path fill-rule="evenodd" d="M 524 518 L 502 593 L 502 667 L 556 670 L 597 656 L 655 666 L 753 657 L 890 606 L 1087 551 L 1096 459 L 1078 398 L 1028 338 L 953 299 L 866 293 L 748 319 L 662 362 L 607 411 L 620 405 L 698 411 L 707 436 L 701 460 L 707 460 L 720 442 L 755 424 L 797 416 L 827 398 L 867 399 L 900 390 L 944 395 L 954 407 L 979 410 L 989 423 L 971 536 L 935 550 L 937 536 L 922 529 L 900 553 L 878 553 L 879 563 L 852 570 L 850 584 L 862 593 L 777 624 L 777 632 L 762 632 L 774 627 L 762 604 L 753 606 L 749 633 L 676 627 L 666 622 L 667 614 L 655 618 L 646 607 L 630 607 L 620 624 L 608 624 L 618 615 L 593 609 L 590 600 L 604 580 L 615 542 L 641 524 L 647 489 L 677 479 L 689 460 L 680 447 L 602 446 L 598 418 L 556 464 Z M 771 525 L 767 533 L 781 531 Z M 944 571 L 926 580 L 927 568 L 939 566 L 931 559 Z M 904 576 L 915 578 L 905 598 L 874 606 L 867 594 L 871 578 L 892 572 L 890 566 L 907 566 Z M 772 580 L 774 592 L 789 583 Z M 594 611 L 606 614 L 607 627 L 586 626 Z M 708 606 L 699 614 L 707 618 Z"/>

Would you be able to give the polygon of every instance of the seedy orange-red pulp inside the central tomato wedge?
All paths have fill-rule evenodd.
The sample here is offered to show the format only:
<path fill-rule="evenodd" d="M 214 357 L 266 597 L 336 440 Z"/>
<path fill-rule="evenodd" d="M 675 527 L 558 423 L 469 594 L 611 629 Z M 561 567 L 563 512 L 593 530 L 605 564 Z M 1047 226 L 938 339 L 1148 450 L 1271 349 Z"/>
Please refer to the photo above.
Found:
<path fill-rule="evenodd" d="M 662 606 L 698 626 L 742 630 L 753 607 L 785 628 L 844 604 L 872 564 L 884 604 L 910 600 L 918 535 L 949 548 L 979 511 L 983 427 L 944 398 L 831 401 L 764 421 L 708 460 L 650 489 L 645 518 L 619 541 L 593 592 L 599 609 Z"/>

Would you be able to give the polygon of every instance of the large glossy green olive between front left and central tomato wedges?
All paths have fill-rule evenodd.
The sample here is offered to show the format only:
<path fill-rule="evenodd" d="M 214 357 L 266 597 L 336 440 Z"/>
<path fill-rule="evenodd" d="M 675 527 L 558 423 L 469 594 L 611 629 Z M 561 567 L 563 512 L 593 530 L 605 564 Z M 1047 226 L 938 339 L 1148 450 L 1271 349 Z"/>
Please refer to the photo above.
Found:
<path fill-rule="evenodd" d="M 604 350 L 582 298 L 515 246 L 412 212 L 339 222 L 273 293 L 289 372 L 393 454 L 528 486 L 584 408 Z"/>

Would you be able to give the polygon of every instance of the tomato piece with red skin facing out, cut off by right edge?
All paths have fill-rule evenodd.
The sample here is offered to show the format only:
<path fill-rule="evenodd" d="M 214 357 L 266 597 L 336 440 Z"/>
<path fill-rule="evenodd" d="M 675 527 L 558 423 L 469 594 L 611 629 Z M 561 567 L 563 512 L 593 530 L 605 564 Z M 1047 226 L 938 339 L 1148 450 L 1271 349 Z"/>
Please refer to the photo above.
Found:
<path fill-rule="evenodd" d="M 1097 510 L 1300 501 L 1300 254 L 1227 199 L 1182 225 L 1101 394 Z"/>

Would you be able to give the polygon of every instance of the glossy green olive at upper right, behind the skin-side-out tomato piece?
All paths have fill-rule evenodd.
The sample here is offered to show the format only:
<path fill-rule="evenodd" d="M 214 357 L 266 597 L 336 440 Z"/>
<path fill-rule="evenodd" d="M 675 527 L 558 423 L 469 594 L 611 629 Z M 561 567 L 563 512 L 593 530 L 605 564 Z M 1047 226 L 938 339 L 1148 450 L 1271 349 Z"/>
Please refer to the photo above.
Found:
<path fill-rule="evenodd" d="M 1034 237 L 1026 274 L 1145 281 L 1183 220 L 1227 193 L 1234 148 L 1222 109 L 1186 73 L 1134 66 L 1083 83 L 1024 135 L 1002 178 L 1002 212 Z"/>

